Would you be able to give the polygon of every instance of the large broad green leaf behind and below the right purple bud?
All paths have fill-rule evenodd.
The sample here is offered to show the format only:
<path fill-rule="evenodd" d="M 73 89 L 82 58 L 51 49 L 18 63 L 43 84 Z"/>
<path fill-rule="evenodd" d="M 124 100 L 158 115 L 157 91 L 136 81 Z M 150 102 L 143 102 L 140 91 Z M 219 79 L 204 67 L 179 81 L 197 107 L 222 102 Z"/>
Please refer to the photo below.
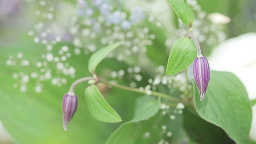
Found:
<path fill-rule="evenodd" d="M 237 144 L 246 144 L 252 121 L 252 109 L 242 82 L 230 72 L 211 72 L 204 101 L 199 101 L 194 84 L 194 102 L 198 114 L 220 126 Z"/>

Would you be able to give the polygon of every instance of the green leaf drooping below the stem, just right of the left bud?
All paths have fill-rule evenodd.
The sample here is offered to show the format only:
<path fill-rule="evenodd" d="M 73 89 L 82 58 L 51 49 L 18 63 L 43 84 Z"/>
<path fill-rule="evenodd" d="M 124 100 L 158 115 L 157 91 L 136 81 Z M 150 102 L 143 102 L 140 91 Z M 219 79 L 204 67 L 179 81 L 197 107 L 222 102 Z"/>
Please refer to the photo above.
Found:
<path fill-rule="evenodd" d="M 91 85 L 86 88 L 85 98 L 88 109 L 94 118 L 102 122 L 122 121 L 120 116 L 109 106 L 95 85 Z"/>

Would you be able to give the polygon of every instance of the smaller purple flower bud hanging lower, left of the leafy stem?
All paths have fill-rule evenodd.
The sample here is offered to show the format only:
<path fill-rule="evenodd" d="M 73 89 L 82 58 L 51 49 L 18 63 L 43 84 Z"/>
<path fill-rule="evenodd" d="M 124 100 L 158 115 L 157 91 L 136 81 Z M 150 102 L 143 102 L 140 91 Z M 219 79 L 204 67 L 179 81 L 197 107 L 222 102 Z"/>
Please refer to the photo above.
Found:
<path fill-rule="evenodd" d="M 75 94 L 66 94 L 62 101 L 63 128 L 66 131 L 77 107 L 77 97 Z"/>

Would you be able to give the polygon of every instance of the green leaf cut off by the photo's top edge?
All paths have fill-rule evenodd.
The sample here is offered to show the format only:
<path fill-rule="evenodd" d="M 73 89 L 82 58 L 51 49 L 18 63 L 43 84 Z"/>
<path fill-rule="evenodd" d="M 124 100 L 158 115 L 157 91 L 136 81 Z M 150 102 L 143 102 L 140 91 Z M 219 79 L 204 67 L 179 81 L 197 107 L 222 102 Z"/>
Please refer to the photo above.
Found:
<path fill-rule="evenodd" d="M 181 0 L 166 0 L 174 9 L 180 20 L 189 27 L 193 26 L 195 16 L 190 7 Z"/>

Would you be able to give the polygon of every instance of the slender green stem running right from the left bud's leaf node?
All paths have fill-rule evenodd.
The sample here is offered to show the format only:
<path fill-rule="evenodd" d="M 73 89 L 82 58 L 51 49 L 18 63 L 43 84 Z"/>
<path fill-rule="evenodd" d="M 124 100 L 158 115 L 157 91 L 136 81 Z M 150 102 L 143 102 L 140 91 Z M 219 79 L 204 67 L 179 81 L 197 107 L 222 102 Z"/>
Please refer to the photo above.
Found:
<path fill-rule="evenodd" d="M 140 90 L 138 88 L 130 88 L 128 86 L 122 86 L 122 85 L 119 85 L 119 84 L 113 84 L 113 83 L 110 83 L 110 82 L 107 82 L 107 81 L 104 81 L 104 80 L 100 80 L 100 82 L 102 82 L 102 83 L 104 83 L 104 84 L 106 84 L 108 86 L 113 86 L 113 87 L 116 87 L 116 88 L 122 88 L 124 90 L 130 90 L 130 91 L 133 91 L 133 92 L 147 94 L 146 90 Z M 159 96 L 161 98 L 165 98 L 165 99 L 168 99 L 168 100 L 171 100 L 171 101 L 174 101 L 174 102 L 180 102 L 180 100 L 178 100 L 177 98 L 174 98 L 174 97 L 169 96 L 167 94 L 163 94 L 161 92 L 151 91 L 151 95 Z"/>

